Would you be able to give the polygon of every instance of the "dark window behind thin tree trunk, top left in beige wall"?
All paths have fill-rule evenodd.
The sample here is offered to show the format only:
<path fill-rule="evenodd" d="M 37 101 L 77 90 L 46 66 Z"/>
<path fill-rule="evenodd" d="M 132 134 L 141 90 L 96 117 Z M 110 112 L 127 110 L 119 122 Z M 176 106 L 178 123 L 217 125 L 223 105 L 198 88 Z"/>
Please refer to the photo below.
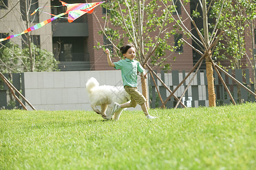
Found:
<path fill-rule="evenodd" d="M 22 20 L 28 20 L 31 23 L 39 23 L 39 12 L 32 14 L 38 8 L 38 0 L 20 0 L 20 12 L 22 14 Z"/>

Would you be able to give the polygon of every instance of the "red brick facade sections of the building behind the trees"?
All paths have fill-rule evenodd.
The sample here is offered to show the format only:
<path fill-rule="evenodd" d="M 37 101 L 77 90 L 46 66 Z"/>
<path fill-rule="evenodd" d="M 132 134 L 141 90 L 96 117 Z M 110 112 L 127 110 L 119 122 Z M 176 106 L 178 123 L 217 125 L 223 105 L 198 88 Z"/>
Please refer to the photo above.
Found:
<path fill-rule="evenodd" d="M 190 11 L 189 3 L 185 6 L 185 8 L 187 8 L 188 11 Z M 96 8 L 94 10 L 94 14 L 88 15 L 88 23 L 89 23 L 88 53 L 90 56 L 90 64 L 92 67 L 91 70 L 113 70 L 113 67 L 108 66 L 108 62 L 107 62 L 106 54 L 104 53 L 104 50 L 103 49 L 97 50 L 94 48 L 94 46 L 97 46 L 98 42 L 100 42 L 100 44 L 103 44 L 103 36 L 98 35 L 98 31 L 101 30 L 101 27 L 97 20 L 97 18 L 99 20 L 101 20 L 101 22 L 102 22 L 101 25 L 104 25 L 104 23 L 101 19 L 103 16 L 104 15 L 102 14 L 101 7 Z M 187 14 L 185 14 L 184 11 L 181 11 L 180 16 L 183 19 L 187 18 Z M 188 27 L 188 29 L 191 29 L 191 22 L 189 19 L 187 19 L 184 22 L 184 25 L 186 25 Z M 251 36 L 249 36 L 249 30 L 247 30 L 247 31 L 248 32 L 245 35 L 246 51 L 251 52 L 251 49 L 255 48 L 255 44 L 253 45 L 251 43 Z M 156 34 L 157 34 L 157 32 L 155 33 L 155 35 L 154 35 L 154 33 L 152 33 L 151 36 L 156 36 Z M 184 35 L 183 35 L 183 38 L 185 38 Z M 187 42 L 189 42 L 189 44 L 192 44 L 191 39 L 187 39 Z M 169 43 L 171 45 L 174 45 L 174 37 L 171 37 Z M 169 54 L 170 54 L 170 52 L 167 53 L 166 56 L 168 56 Z M 174 57 L 176 57 L 175 61 L 174 61 Z M 248 57 L 252 58 L 251 54 L 249 54 Z M 251 69 L 251 65 L 250 65 L 248 57 L 244 56 L 242 59 L 242 62 L 244 63 L 243 68 L 250 69 L 250 74 L 252 75 L 252 69 Z M 117 57 L 113 58 L 113 61 L 118 61 L 118 60 L 119 60 L 119 58 L 117 58 Z M 250 60 L 251 60 L 251 63 L 253 63 L 253 59 L 250 59 Z M 184 44 L 183 52 L 180 54 L 179 53 L 172 54 L 172 56 L 167 59 L 166 63 L 171 63 L 172 70 L 185 70 L 185 71 L 191 70 L 193 67 L 192 48 L 189 45 Z M 222 64 L 228 66 L 229 61 L 224 61 Z M 156 67 L 155 67 L 155 69 L 160 70 L 160 68 L 156 68 Z"/>

